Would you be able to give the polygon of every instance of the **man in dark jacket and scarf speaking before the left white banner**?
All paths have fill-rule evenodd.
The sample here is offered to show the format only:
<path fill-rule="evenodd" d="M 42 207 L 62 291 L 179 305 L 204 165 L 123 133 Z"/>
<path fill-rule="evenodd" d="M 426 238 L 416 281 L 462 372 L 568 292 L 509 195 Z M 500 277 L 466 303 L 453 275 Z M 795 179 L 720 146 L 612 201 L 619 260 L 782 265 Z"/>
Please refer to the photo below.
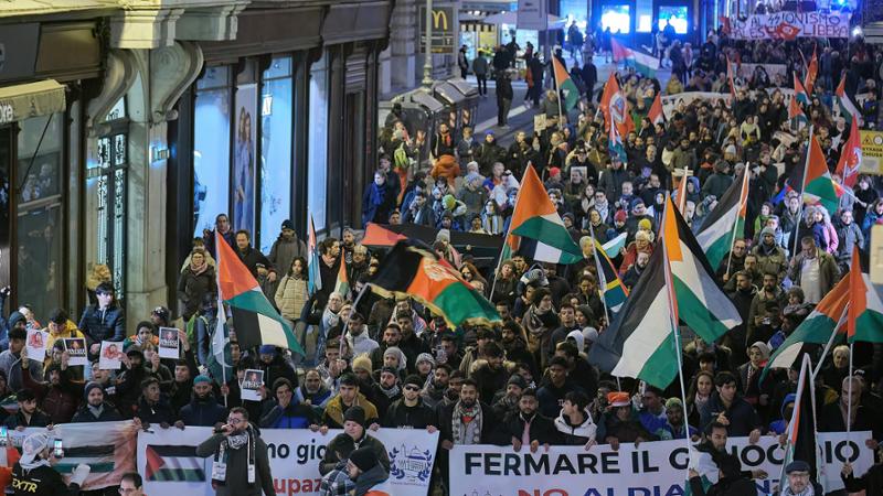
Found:
<path fill-rule="evenodd" d="M 267 445 L 248 423 L 248 411 L 230 410 L 227 422 L 196 446 L 196 456 L 213 456 L 212 487 L 217 496 L 276 496 Z"/>

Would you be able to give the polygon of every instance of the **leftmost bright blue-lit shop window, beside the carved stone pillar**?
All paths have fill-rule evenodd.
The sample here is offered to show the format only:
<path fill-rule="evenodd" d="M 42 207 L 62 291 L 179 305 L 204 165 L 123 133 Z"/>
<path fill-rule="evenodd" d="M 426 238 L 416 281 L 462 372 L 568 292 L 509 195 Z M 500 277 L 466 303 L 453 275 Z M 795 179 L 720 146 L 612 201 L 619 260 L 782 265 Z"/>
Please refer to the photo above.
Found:
<path fill-rule="evenodd" d="M 209 67 L 196 82 L 193 125 L 194 236 L 230 209 L 230 69 Z M 235 224 L 235 228 L 238 228 Z"/>

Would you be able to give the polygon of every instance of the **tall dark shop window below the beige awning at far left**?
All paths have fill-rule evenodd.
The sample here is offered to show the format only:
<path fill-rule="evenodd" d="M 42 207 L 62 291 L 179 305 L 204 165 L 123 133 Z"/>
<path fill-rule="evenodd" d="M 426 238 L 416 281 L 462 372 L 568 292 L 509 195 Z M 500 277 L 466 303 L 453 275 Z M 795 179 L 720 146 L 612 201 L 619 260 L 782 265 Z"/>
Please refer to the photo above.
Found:
<path fill-rule="evenodd" d="M 62 300 L 63 119 L 55 114 L 19 122 L 15 285 L 19 303 L 31 304 L 36 315 L 47 315 Z"/>

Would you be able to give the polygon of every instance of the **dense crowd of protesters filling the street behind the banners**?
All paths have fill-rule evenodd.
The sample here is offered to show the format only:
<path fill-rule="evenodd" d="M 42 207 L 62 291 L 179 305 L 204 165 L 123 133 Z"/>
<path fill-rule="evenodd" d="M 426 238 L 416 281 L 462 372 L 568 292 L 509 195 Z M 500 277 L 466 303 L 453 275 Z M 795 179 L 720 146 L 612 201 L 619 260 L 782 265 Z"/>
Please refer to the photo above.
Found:
<path fill-rule="evenodd" d="M 329 440 L 320 465 L 322 494 L 334 495 L 365 494 L 386 478 L 389 457 L 382 444 L 365 435 L 376 429 L 440 432 L 435 490 L 446 488 L 447 451 L 454 444 L 591 450 L 595 444 L 618 449 L 621 443 L 691 436 L 700 441 L 700 451 L 714 454 L 722 473 L 738 472 L 725 451 L 727 436 L 756 442 L 780 435 L 795 407 L 797 370 L 773 370 L 760 381 L 766 360 L 850 270 L 852 248 L 868 249 L 871 227 L 883 224 L 883 183 L 876 176 L 861 175 L 854 188 L 844 186 L 836 212 L 805 206 L 797 193 L 780 194 L 791 170 L 801 166 L 808 128 L 788 121 L 783 94 L 770 85 L 787 88 L 795 71 L 802 78 L 800 54 L 811 53 L 812 46 L 804 39 L 746 43 L 716 33 L 694 63 L 673 72 L 664 88 L 657 79 L 620 73 L 636 123 L 624 137 L 625 161 L 608 152 L 594 84 L 563 119 L 557 93 L 546 91 L 539 107 L 546 129 L 519 132 L 507 148 L 493 132 L 476 138 L 468 126 L 442 123 L 432 133 L 427 163 L 415 160 L 419 153 L 415 155 L 405 123 L 390 122 L 386 155 L 362 198 L 363 219 L 437 229 L 433 248 L 494 304 L 499 324 L 450 328 L 444 317 L 411 299 L 384 299 L 370 290 L 357 299 L 384 252 L 361 245 L 359 231 L 349 228 L 340 239 L 319 242 L 315 272 L 321 284 L 310 292 L 308 250 L 292 223 L 286 220 L 270 252 L 262 254 L 252 247 L 248 231 L 236 231 L 226 215 L 219 215 L 215 230 L 194 239 L 180 269 L 179 302 L 172 305 L 180 320 L 160 306 L 135 316 L 143 321 L 127 336 L 126 319 L 132 316 L 124 315 L 108 280 L 94 287 L 92 302 L 79 315 L 62 309 L 34 315 L 26 304 L 11 312 L 1 326 L 0 402 L 15 408 L 0 410 L 0 421 L 9 429 L 121 419 L 136 419 L 143 428 L 214 427 L 219 433 L 199 450 L 206 456 L 219 446 L 259 441 L 262 428 L 323 433 L 342 428 L 342 434 Z M 883 53 L 861 40 L 826 41 L 819 53 L 819 76 L 805 111 L 834 173 L 850 129 L 834 110 L 831 93 L 845 77 L 847 95 L 866 96 L 862 115 L 853 118 L 861 117 L 865 129 L 875 128 Z M 774 82 L 760 74 L 738 79 L 732 103 L 681 103 L 664 123 L 650 122 L 647 111 L 660 91 L 728 93 L 727 57 L 783 63 L 787 74 Z M 544 182 L 585 260 L 555 266 L 514 255 L 497 267 L 479 267 L 455 248 L 450 233 L 507 233 L 526 168 L 534 168 Z M 685 179 L 683 214 L 694 231 L 735 177 L 749 174 L 745 236 L 715 268 L 743 324 L 719 343 L 687 339 L 687 391 L 677 381 L 661 390 L 603 374 L 586 358 L 610 323 L 588 236 L 605 242 L 626 234 L 621 251 L 608 255 L 624 284 L 632 288 L 658 242 L 661 208 L 678 181 L 674 174 L 684 168 L 692 175 Z M 227 321 L 233 371 L 226 380 L 212 371 L 216 235 L 289 321 L 305 356 L 272 345 L 241 349 L 236 334 L 249 330 Z M 342 262 L 352 287 L 347 294 L 334 291 Z M 158 330 L 167 326 L 179 328 L 178 359 L 159 356 Z M 28 356 L 28 330 L 49 333 L 42 362 Z M 689 328 L 682 332 L 692 336 Z M 63 338 L 71 337 L 86 339 L 88 365 L 70 364 Z M 99 367 L 96 345 L 103 341 L 120 342 L 121 369 Z M 821 348 L 806 351 L 815 360 Z M 241 396 L 248 369 L 264 371 L 259 401 Z M 815 385 L 819 430 L 844 431 L 849 423 L 853 431 L 871 431 L 865 442 L 877 450 L 883 440 L 883 424 L 875 420 L 883 416 L 882 371 L 880 345 L 857 344 L 852 356 L 849 347 L 838 346 L 823 357 Z M 235 470 L 245 470 L 246 463 L 241 460 Z M 847 487 L 881 487 L 879 467 L 869 474 L 844 467 Z M 801 468 L 789 471 L 799 475 Z M 257 483 L 235 479 L 231 484 L 236 486 L 223 494 L 260 494 L 262 485 L 266 492 L 268 472 L 258 472 Z"/>

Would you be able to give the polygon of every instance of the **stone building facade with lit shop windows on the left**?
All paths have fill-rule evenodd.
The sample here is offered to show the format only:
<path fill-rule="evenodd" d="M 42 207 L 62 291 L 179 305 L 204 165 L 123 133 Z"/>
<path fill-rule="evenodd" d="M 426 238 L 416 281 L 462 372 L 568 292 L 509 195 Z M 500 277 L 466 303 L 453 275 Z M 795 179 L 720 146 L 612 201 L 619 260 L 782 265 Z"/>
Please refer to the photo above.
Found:
<path fill-rule="evenodd" d="M 308 209 L 322 231 L 354 223 L 376 163 L 391 10 L 0 7 L 0 284 L 14 288 L 11 304 L 39 320 L 56 306 L 78 314 L 109 272 L 134 327 L 175 306 L 191 241 L 217 214 L 258 248 L 288 218 L 302 234 Z"/>

